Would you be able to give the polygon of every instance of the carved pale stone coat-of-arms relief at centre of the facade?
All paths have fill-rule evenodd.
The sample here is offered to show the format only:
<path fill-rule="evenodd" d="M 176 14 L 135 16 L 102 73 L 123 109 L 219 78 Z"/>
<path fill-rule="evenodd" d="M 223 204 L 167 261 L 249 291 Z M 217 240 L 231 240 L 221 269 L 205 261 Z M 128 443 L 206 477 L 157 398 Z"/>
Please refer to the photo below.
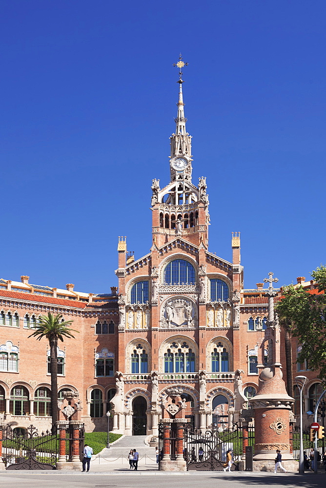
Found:
<path fill-rule="evenodd" d="M 197 305 L 187 297 L 168 298 L 161 306 L 161 327 L 196 327 Z"/>

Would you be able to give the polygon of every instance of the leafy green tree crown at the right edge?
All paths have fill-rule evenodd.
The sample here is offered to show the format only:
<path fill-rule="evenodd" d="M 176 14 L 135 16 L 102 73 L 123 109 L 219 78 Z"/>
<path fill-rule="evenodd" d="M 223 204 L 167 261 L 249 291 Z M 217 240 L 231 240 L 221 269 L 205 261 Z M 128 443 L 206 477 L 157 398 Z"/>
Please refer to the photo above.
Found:
<path fill-rule="evenodd" d="M 280 319 L 290 326 L 292 336 L 302 345 L 297 363 L 307 360 L 309 369 L 319 371 L 318 377 L 326 383 L 326 266 L 318 267 L 311 276 L 318 290 L 285 286 L 276 309 Z"/>

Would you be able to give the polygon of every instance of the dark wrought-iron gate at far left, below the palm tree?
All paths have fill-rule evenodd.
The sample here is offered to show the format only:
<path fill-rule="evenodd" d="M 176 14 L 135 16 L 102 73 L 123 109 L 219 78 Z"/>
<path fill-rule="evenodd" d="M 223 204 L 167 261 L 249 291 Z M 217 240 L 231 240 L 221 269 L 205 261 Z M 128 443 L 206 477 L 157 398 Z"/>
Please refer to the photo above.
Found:
<path fill-rule="evenodd" d="M 6 427 L 3 430 L 2 459 L 6 469 L 56 469 L 59 440 L 57 433 Z"/>

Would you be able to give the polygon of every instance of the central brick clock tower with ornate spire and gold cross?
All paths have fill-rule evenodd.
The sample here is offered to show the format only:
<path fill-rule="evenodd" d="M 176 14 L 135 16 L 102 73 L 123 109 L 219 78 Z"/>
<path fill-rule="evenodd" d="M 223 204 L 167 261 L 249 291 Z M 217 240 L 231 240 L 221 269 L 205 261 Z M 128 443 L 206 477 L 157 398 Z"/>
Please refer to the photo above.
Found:
<path fill-rule="evenodd" d="M 186 132 L 184 116 L 182 71 L 187 65 L 180 55 L 179 100 L 178 113 L 174 119 L 176 131 L 170 137 L 170 183 L 163 189 L 160 181 L 153 180 L 152 211 L 153 211 L 153 243 L 158 247 L 176 238 L 183 238 L 199 246 L 207 248 L 208 244 L 208 195 L 206 194 L 206 178 L 200 178 L 198 186 L 191 181 L 192 154 L 191 137 Z"/>

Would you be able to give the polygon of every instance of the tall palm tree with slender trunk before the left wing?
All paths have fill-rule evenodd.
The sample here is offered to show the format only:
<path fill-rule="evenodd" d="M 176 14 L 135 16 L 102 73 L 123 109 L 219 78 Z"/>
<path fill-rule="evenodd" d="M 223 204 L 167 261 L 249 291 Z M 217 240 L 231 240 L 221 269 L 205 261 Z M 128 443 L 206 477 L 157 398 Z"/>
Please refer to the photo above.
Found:
<path fill-rule="evenodd" d="M 51 411 L 52 411 L 52 430 L 56 429 L 56 422 L 58 420 L 58 339 L 63 342 L 63 337 L 75 337 L 71 332 L 78 332 L 78 330 L 69 329 L 72 320 L 63 320 L 62 315 L 58 313 L 53 315 L 48 313 L 42 315 L 37 325 L 34 327 L 33 333 L 28 336 L 35 336 L 38 341 L 42 337 L 46 337 L 50 345 L 50 367 L 51 367 Z"/>

